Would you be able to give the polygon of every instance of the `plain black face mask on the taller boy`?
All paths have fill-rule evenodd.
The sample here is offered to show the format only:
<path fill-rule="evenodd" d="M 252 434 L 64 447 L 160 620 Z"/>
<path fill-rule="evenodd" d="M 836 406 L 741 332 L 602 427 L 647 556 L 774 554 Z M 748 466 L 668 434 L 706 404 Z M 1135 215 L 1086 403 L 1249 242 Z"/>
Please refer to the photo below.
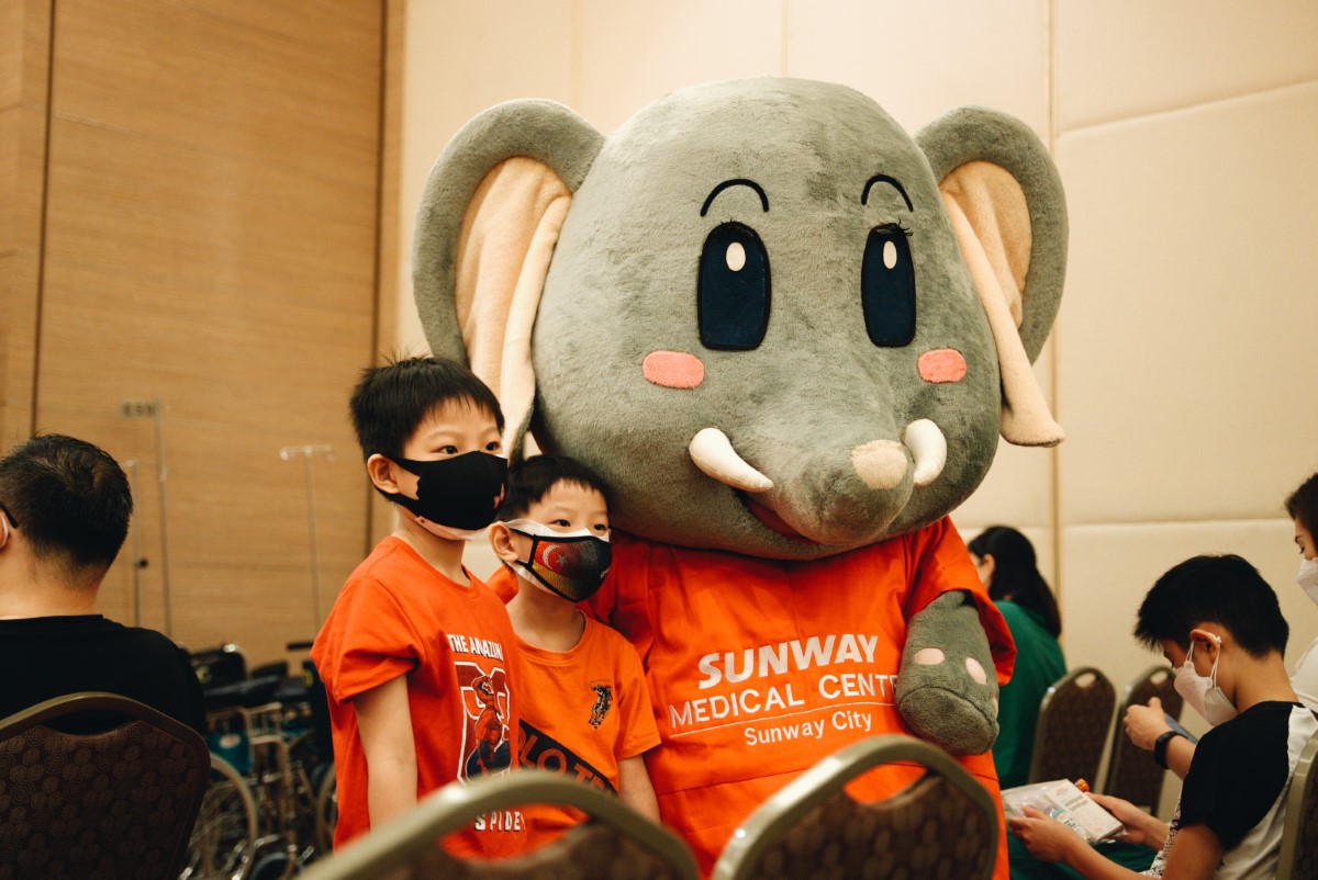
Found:
<path fill-rule="evenodd" d="M 415 461 L 393 458 L 416 474 L 416 497 L 387 493 L 418 518 L 448 528 L 477 530 L 494 522 L 494 507 L 507 480 L 507 458 L 488 452 L 468 452 L 452 458 Z"/>

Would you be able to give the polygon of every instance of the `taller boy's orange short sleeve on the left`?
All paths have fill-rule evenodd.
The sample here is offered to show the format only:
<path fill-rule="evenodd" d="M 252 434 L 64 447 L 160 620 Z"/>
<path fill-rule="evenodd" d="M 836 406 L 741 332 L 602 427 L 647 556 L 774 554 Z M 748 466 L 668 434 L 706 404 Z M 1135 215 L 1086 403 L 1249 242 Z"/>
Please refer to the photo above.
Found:
<path fill-rule="evenodd" d="M 423 644 L 398 598 L 365 578 L 344 588 L 311 659 L 330 696 L 347 702 L 424 663 Z"/>

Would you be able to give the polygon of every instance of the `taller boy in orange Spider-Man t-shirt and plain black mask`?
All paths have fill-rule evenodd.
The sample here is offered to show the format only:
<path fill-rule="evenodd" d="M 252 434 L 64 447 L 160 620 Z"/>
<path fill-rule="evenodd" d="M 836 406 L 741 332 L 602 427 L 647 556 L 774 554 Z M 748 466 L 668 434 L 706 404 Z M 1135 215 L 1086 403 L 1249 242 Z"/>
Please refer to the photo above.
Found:
<path fill-rule="evenodd" d="M 335 846 L 455 780 L 513 764 L 513 627 L 463 568 L 503 494 L 498 400 L 452 361 L 368 369 L 351 411 L 372 485 L 398 527 L 348 577 L 311 657 L 324 680 L 339 786 Z M 445 839 L 459 855 L 523 846 L 519 813 Z"/>

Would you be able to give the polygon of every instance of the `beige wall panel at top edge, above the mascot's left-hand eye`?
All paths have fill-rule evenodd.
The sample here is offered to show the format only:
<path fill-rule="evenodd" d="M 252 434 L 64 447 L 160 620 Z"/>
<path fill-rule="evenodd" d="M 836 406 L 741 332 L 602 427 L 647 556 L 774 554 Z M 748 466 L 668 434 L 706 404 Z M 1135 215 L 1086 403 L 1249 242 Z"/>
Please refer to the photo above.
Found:
<path fill-rule="evenodd" d="M 786 0 L 579 0 L 576 109 L 609 133 L 675 88 L 783 72 Z"/>

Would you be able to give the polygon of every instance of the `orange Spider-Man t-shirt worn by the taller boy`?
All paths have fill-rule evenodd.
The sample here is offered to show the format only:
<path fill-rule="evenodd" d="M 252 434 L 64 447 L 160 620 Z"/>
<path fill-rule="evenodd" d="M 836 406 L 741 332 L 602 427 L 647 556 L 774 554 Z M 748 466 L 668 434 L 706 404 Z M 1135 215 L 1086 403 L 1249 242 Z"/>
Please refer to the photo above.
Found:
<path fill-rule="evenodd" d="M 376 545 L 339 593 L 311 648 L 333 729 L 339 825 L 335 847 L 370 830 L 366 756 L 353 698 L 407 676 L 416 746 L 416 797 L 455 780 L 511 767 L 517 636 L 503 603 L 468 574 L 448 580 L 397 537 Z M 457 855 L 518 852 L 525 822 L 481 817 L 445 839 Z"/>

